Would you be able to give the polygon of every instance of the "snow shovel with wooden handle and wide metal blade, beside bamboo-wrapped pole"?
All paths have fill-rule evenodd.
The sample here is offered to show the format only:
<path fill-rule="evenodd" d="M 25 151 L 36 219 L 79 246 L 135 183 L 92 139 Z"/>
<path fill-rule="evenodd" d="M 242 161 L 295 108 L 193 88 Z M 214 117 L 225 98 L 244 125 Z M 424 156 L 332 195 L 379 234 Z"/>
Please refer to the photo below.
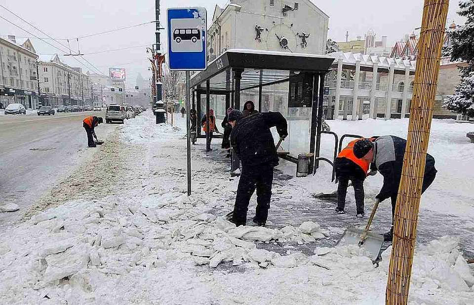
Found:
<path fill-rule="evenodd" d="M 347 246 L 347 245 L 358 245 L 359 247 L 363 247 L 366 251 L 366 255 L 375 262 L 379 257 L 380 249 L 382 249 L 382 244 L 384 243 L 384 236 L 369 232 L 370 225 L 372 224 L 372 220 L 374 219 L 375 212 L 379 207 L 379 199 L 375 201 L 374 208 L 372 209 L 372 213 L 370 214 L 369 221 L 367 222 L 367 226 L 365 229 L 357 229 L 357 228 L 348 228 L 342 234 L 341 238 L 337 241 L 336 246 Z"/>

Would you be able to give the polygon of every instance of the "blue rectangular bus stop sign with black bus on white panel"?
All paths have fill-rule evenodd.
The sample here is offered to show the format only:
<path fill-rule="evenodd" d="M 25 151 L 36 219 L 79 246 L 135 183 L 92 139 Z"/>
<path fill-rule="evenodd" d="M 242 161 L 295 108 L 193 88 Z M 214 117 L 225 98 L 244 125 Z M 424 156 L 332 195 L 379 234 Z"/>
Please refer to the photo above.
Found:
<path fill-rule="evenodd" d="M 168 8 L 167 12 L 169 69 L 206 70 L 206 9 L 202 7 Z"/>

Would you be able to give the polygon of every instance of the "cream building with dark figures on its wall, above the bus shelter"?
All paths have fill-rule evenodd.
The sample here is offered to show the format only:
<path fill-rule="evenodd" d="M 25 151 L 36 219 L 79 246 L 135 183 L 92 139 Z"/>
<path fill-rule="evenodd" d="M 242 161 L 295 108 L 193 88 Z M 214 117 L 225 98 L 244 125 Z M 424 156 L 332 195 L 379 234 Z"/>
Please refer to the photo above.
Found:
<path fill-rule="evenodd" d="M 231 0 L 212 22 L 209 61 L 228 49 L 325 53 L 329 17 L 310 0 Z"/>

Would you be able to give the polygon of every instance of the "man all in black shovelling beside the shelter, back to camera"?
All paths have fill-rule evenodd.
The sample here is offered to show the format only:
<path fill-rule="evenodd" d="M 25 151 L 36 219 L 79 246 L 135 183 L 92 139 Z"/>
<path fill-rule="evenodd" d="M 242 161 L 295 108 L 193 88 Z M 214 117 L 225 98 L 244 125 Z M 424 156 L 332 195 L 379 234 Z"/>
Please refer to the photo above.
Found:
<path fill-rule="evenodd" d="M 250 197 L 257 190 L 257 208 L 253 222 L 265 226 L 272 196 L 273 170 L 278 155 L 270 128 L 276 127 L 284 139 L 288 135 L 286 119 L 280 113 L 257 113 L 247 117 L 234 110 L 229 114 L 232 125 L 231 145 L 242 163 L 234 212 L 230 221 L 245 226 Z"/>

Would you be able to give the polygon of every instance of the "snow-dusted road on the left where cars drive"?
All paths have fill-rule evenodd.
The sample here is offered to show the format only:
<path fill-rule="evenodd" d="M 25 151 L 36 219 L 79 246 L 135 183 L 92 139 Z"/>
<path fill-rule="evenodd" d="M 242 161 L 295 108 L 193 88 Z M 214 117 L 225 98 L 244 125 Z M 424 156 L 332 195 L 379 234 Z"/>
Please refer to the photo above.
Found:
<path fill-rule="evenodd" d="M 51 187 L 92 157 L 94 151 L 87 149 L 82 127 L 88 115 L 99 114 L 0 116 L 0 205 L 20 206 L 18 212 L 0 213 L 0 225 L 18 220 Z M 97 135 L 106 138 L 116 127 L 102 124 Z"/>

